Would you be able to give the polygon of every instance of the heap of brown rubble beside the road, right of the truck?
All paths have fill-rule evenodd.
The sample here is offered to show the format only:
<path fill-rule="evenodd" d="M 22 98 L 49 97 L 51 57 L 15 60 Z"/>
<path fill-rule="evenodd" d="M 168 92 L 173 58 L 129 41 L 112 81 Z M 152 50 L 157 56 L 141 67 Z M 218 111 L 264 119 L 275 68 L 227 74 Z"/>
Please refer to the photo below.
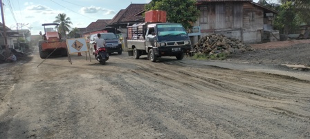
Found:
<path fill-rule="evenodd" d="M 241 43 L 238 39 L 228 38 L 221 34 L 210 34 L 199 39 L 194 45 L 194 52 L 199 54 L 231 54 L 253 50 L 250 45 Z"/>

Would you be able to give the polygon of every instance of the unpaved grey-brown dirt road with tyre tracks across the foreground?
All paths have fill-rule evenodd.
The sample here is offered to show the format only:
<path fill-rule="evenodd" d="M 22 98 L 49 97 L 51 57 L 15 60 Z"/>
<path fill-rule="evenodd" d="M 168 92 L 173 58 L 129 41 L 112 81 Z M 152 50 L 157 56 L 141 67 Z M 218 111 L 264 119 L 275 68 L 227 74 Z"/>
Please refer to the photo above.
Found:
<path fill-rule="evenodd" d="M 310 138 L 309 72 L 125 53 L 72 61 L 37 67 L 36 50 L 1 65 L 0 138 Z"/>

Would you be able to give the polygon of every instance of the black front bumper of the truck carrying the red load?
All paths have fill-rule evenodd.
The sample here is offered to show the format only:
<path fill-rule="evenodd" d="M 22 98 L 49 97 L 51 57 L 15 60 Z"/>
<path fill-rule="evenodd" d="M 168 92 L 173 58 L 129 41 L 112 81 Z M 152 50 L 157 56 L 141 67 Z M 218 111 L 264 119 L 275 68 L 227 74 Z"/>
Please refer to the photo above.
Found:
<path fill-rule="evenodd" d="M 154 49 L 154 48 L 153 48 Z M 181 53 L 190 52 L 190 45 L 185 46 L 169 46 L 155 48 L 155 54 L 158 56 L 177 56 Z"/>

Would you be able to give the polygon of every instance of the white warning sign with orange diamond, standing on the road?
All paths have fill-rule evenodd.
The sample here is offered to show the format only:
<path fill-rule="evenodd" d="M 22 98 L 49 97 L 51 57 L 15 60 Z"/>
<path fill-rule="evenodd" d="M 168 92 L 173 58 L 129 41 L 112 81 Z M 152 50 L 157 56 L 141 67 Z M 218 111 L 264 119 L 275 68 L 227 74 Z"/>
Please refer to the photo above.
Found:
<path fill-rule="evenodd" d="M 69 54 L 88 51 L 84 38 L 66 39 L 66 45 L 68 46 Z"/>

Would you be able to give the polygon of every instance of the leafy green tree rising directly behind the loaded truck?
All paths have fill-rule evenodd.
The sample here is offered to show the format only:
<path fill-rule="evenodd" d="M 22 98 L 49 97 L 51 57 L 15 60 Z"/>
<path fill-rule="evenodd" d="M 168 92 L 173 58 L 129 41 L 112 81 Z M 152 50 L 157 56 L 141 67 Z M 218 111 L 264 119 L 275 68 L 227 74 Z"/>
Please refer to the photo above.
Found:
<path fill-rule="evenodd" d="M 167 12 L 167 21 L 181 23 L 185 29 L 190 29 L 200 16 L 195 4 L 195 0 L 152 0 L 145 10 L 164 10 Z"/>

